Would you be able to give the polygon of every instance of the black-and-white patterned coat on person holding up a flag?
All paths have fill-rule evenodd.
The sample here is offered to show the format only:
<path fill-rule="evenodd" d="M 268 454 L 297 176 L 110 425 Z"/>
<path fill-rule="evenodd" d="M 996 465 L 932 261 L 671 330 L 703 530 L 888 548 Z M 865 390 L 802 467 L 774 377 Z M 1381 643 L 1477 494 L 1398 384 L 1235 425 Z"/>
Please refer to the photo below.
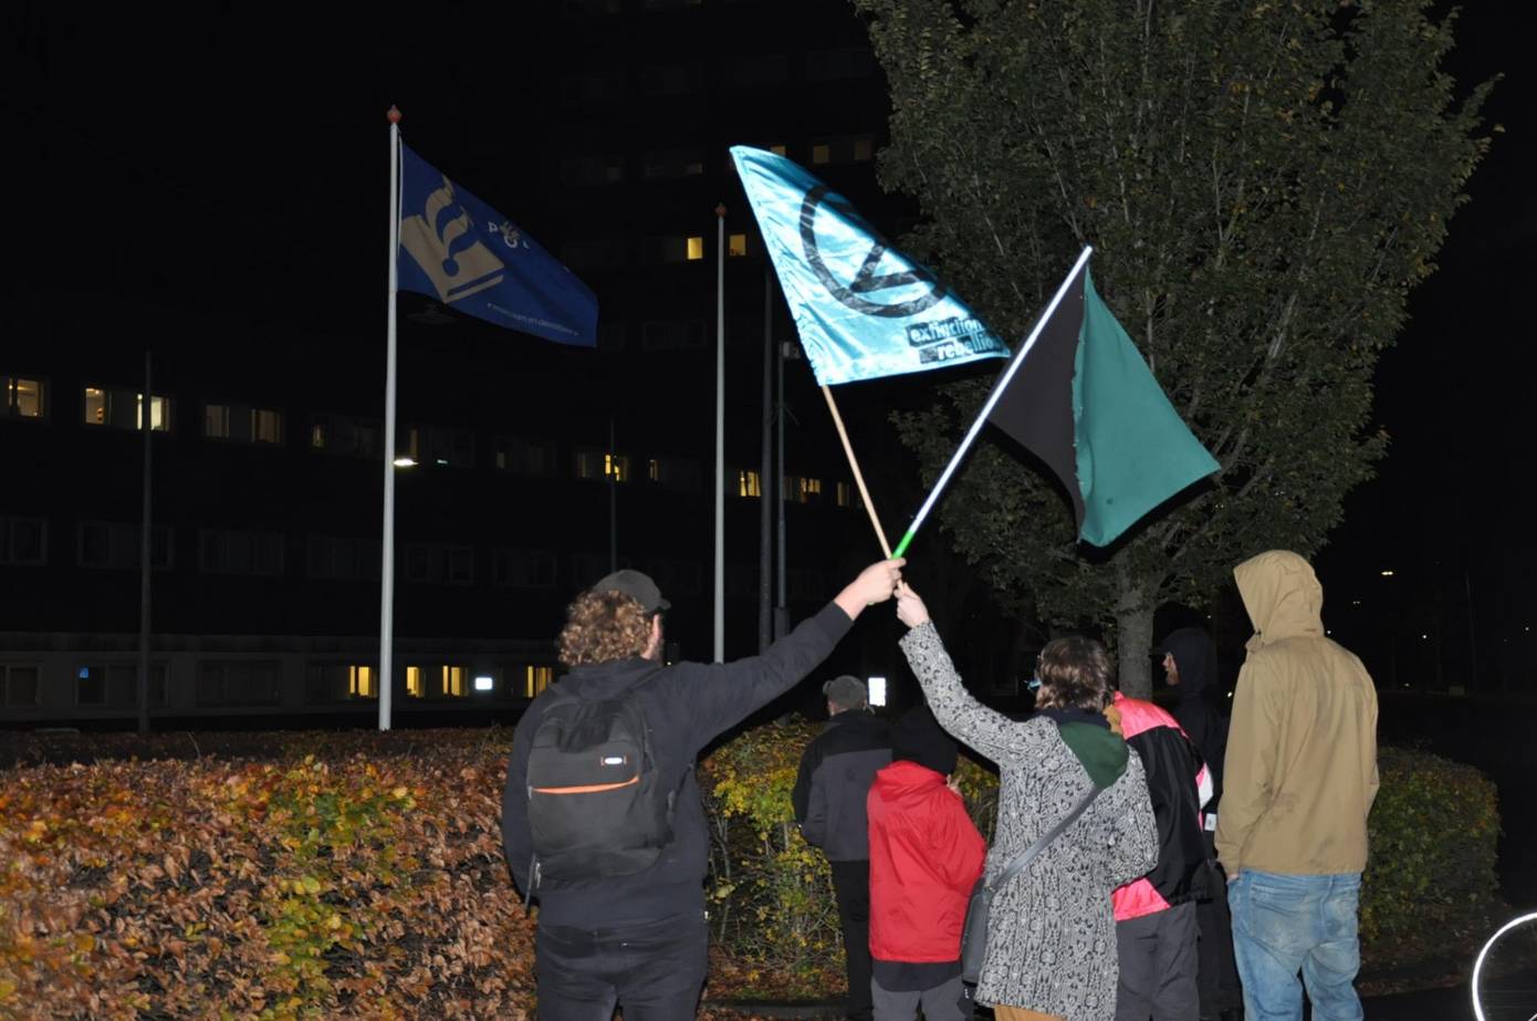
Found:
<path fill-rule="evenodd" d="M 933 624 L 910 630 L 902 652 L 939 724 L 998 763 L 998 829 L 987 855 L 993 878 L 1065 818 L 1093 783 L 1050 718 L 1019 723 L 971 698 Z M 1128 752 L 1120 778 L 994 893 L 981 1003 L 1067 1021 L 1114 1016 L 1120 972 L 1110 892 L 1157 863 L 1147 775 Z"/>

